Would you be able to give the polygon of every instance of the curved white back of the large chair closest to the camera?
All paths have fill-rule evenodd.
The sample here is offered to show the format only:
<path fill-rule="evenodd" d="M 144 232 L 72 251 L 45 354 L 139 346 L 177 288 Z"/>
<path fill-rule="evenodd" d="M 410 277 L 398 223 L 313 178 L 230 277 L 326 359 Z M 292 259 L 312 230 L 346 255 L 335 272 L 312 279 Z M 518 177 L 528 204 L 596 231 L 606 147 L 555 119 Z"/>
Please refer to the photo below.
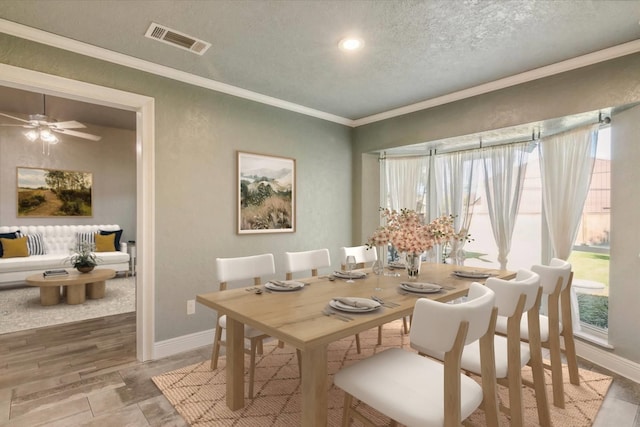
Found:
<path fill-rule="evenodd" d="M 446 353 L 453 348 L 463 322 L 469 325 L 465 344 L 480 339 L 487 333 L 494 304 L 494 292 L 475 282 L 469 287 L 467 301 L 460 304 L 418 299 L 409 335 L 411 347 L 424 353 L 432 350 Z M 447 321 L 443 322 L 442 319 Z"/>

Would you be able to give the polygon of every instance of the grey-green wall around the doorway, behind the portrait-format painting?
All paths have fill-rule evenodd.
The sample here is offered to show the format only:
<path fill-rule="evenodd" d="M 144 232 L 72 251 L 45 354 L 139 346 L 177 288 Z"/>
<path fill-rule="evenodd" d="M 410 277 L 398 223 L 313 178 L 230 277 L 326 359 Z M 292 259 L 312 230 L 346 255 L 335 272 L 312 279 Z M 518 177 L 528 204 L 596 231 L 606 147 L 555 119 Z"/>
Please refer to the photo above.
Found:
<path fill-rule="evenodd" d="M 186 301 L 217 289 L 215 258 L 349 245 L 351 129 L 0 34 L 0 62 L 155 98 L 155 341 L 213 327 Z M 236 234 L 236 151 L 293 157 L 297 231 Z M 0 204 L 4 204 L 4 199 Z"/>

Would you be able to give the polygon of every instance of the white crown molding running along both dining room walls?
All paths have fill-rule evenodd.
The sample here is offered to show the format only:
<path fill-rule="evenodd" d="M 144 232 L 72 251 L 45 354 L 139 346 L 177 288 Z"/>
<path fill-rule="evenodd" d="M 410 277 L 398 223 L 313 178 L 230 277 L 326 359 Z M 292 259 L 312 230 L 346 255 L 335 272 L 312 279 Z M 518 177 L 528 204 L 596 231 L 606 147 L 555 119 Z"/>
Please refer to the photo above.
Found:
<path fill-rule="evenodd" d="M 615 59 L 621 56 L 640 52 L 640 39 L 633 40 L 627 43 L 623 43 L 621 45 L 613 46 L 607 49 L 602 49 L 586 55 L 571 58 L 566 61 L 557 62 L 555 64 L 547 65 L 545 67 L 540 67 L 534 70 L 526 71 L 524 73 L 505 77 L 503 79 L 495 80 L 493 82 L 474 86 L 474 87 L 460 90 L 457 92 L 452 92 L 443 96 L 427 99 L 425 101 L 421 101 L 421 102 L 407 105 L 400 108 L 395 108 L 393 110 L 363 117 L 357 120 L 351 120 L 345 117 L 340 117 L 334 114 L 326 113 L 324 111 L 319 111 L 319 110 L 315 110 L 313 108 L 305 107 L 299 104 L 294 104 L 289 101 L 284 101 L 282 99 L 278 99 L 278 98 L 263 95 L 257 92 L 253 92 L 250 90 L 242 89 L 226 83 L 221 83 L 216 80 L 196 76 L 190 73 L 186 73 L 184 71 L 179 71 L 174 68 L 166 67 L 164 65 L 158 65 L 149 61 L 144 61 L 142 59 L 134 58 L 134 57 L 117 53 L 117 52 L 113 52 L 111 50 L 96 47 L 88 43 L 84 43 L 77 40 L 72 40 L 66 37 L 51 34 L 46 31 L 38 30 L 36 28 L 28 27 L 26 25 L 7 21 L 2 18 L 0 18 L 0 32 L 6 33 L 12 36 L 20 37 L 26 40 L 31 40 L 37 43 L 42 43 L 48 46 L 56 47 L 59 49 L 67 50 L 70 52 L 78 53 L 81 55 L 89 56 L 92 58 L 100 59 L 103 61 L 111 62 L 114 64 L 122 65 L 125 67 L 133 68 L 136 70 L 148 72 L 158 76 L 166 77 L 172 80 L 177 80 L 177 81 L 191 84 L 194 86 L 199 86 L 199 87 L 213 90 L 216 92 L 226 93 L 228 95 L 237 96 L 239 98 L 248 99 L 251 101 L 259 102 L 259 103 L 270 105 L 277 108 L 282 108 L 284 110 L 293 111 L 296 113 L 304 114 L 311 117 L 316 117 L 322 120 L 327 120 L 330 122 L 339 123 L 339 124 L 354 127 L 354 128 L 358 126 L 367 125 L 370 123 L 379 122 L 382 120 L 387 120 L 393 117 L 414 113 L 416 111 L 426 110 L 428 108 L 437 107 L 439 105 L 448 104 L 450 102 L 459 101 L 461 99 L 482 95 L 482 94 L 493 92 L 500 89 L 505 89 L 518 84 L 527 83 L 527 82 L 541 79 L 544 77 L 549 77 L 554 74 L 564 73 L 566 71 L 575 70 L 577 68 L 586 67 L 588 65 L 597 64 L 599 62 L 604 62 L 610 59 Z"/>

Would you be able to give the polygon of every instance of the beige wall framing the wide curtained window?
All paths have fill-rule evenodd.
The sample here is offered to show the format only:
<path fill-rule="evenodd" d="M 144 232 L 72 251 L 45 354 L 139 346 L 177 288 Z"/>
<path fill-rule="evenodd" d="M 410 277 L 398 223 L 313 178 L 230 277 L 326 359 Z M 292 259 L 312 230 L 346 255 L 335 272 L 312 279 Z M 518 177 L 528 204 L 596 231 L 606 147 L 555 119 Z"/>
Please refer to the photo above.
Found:
<path fill-rule="evenodd" d="M 360 162 L 366 153 L 637 102 L 640 102 L 640 54 L 359 127 L 354 132 L 353 211 L 361 222 L 354 224 L 354 240 L 366 238 L 363 225 L 371 224 L 377 215 L 375 206 L 364 204 L 370 200 L 366 194 L 379 191 L 377 185 L 372 184 L 377 181 L 371 171 Z M 615 125 L 614 116 L 614 129 Z M 612 233 L 615 229 L 637 230 L 637 215 L 615 216 L 615 212 L 637 213 L 640 204 L 640 192 L 629 187 L 629 183 L 638 182 L 640 134 L 629 133 L 626 139 L 625 144 L 616 147 L 616 158 L 612 160 L 612 171 L 630 178 L 613 183 L 625 190 L 624 197 L 615 198 L 612 203 Z M 638 233 L 627 236 L 611 239 L 610 266 L 615 273 L 611 276 L 609 337 L 616 346 L 616 355 L 640 362 L 640 337 L 630 327 L 640 325 Z"/>

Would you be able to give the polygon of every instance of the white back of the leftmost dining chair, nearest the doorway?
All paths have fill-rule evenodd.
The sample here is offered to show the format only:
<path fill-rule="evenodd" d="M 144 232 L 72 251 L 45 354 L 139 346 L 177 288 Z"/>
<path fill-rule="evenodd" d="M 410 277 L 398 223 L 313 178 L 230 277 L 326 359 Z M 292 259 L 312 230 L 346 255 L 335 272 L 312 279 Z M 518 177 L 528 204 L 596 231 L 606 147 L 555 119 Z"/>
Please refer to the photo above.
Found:
<path fill-rule="evenodd" d="M 229 282 L 248 279 L 253 279 L 254 285 L 259 285 L 262 276 L 274 275 L 276 272 L 273 254 L 216 258 L 216 267 L 220 289 L 225 289 Z"/>

